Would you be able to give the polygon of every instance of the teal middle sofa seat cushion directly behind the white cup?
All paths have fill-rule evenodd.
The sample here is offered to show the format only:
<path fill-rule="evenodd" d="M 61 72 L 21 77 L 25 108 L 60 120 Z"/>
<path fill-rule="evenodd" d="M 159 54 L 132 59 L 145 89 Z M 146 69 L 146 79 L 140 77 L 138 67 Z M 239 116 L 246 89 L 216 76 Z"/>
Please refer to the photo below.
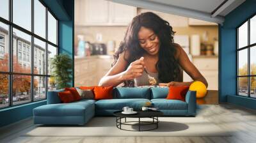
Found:
<path fill-rule="evenodd" d="M 112 99 L 112 100 L 99 100 L 95 102 L 95 109 L 104 110 L 122 110 L 123 107 L 128 106 L 135 110 L 141 109 L 146 102 L 150 102 L 148 99 Z"/>

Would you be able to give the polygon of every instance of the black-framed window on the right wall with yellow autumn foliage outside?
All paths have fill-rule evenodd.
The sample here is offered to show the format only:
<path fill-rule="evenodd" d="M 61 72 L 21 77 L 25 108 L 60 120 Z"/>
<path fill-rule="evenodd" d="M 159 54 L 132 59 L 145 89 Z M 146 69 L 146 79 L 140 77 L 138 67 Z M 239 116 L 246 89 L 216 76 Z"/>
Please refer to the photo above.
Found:
<path fill-rule="evenodd" d="M 256 98 L 256 15 L 237 27 L 237 93 Z"/>

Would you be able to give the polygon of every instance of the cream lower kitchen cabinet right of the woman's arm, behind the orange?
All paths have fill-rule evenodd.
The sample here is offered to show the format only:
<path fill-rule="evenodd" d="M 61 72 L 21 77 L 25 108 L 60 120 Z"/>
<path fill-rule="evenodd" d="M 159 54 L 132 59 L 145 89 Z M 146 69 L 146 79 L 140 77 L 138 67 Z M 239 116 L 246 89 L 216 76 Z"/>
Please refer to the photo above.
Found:
<path fill-rule="evenodd" d="M 218 90 L 218 57 L 193 56 L 193 64 L 207 80 L 207 89 Z"/>

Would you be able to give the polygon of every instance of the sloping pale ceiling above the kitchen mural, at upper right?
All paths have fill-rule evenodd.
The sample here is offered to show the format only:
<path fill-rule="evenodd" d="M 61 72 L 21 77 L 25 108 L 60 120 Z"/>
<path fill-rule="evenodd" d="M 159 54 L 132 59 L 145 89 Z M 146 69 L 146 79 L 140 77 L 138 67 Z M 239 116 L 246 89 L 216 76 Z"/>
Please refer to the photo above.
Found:
<path fill-rule="evenodd" d="M 224 17 L 245 0 L 108 0 L 148 10 L 222 24 Z M 221 3 L 225 2 L 222 6 Z M 220 6 L 220 8 L 218 8 Z M 216 8 L 218 10 L 212 13 Z"/>

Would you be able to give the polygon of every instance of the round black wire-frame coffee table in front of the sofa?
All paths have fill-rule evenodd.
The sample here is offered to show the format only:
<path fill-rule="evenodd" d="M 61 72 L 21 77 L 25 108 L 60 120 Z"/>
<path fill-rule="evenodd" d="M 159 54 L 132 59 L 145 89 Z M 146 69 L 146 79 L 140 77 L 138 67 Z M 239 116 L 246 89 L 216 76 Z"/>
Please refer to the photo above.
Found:
<path fill-rule="evenodd" d="M 131 125 L 131 126 L 138 126 L 139 130 L 127 130 L 127 131 L 150 131 L 158 128 L 159 123 L 159 116 L 163 116 L 163 112 L 159 110 L 138 110 L 137 114 L 122 114 L 122 110 L 114 112 L 114 116 L 116 116 L 116 127 L 120 130 L 126 130 L 122 128 L 122 125 Z M 138 118 L 138 121 L 126 121 L 127 117 L 131 118 Z M 141 118 L 151 118 L 152 121 L 141 121 Z M 124 122 L 122 122 L 122 119 L 125 119 Z M 138 124 L 132 124 L 132 123 L 138 123 Z M 141 126 L 148 126 L 148 125 L 154 125 L 153 128 L 147 129 L 147 130 L 141 130 Z"/>

